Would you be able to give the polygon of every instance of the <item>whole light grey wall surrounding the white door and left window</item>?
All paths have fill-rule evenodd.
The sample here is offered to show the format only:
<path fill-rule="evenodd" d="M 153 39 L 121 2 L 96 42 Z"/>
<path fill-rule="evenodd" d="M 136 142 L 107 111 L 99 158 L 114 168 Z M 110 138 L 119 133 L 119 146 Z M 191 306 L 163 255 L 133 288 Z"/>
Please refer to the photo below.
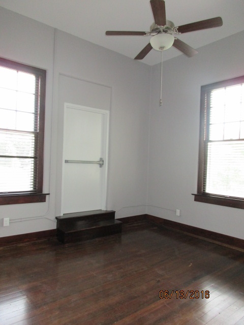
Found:
<path fill-rule="evenodd" d="M 110 110 L 107 209 L 119 210 L 116 217 L 145 213 L 150 67 L 2 7 L 0 30 L 0 56 L 47 70 L 44 191 L 50 192 L 46 203 L 0 206 L 0 237 L 56 228 L 62 78 L 83 87 L 73 98 L 82 103 L 74 104 Z M 3 227 L 4 217 L 9 227 Z"/>

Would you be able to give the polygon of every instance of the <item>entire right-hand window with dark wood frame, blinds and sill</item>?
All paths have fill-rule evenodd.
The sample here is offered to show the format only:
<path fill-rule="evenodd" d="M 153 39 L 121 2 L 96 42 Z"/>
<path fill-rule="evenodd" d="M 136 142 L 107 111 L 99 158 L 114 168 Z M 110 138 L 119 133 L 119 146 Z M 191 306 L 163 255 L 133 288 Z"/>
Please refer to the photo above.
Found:
<path fill-rule="evenodd" d="M 195 201 L 244 209 L 244 76 L 201 87 Z"/>

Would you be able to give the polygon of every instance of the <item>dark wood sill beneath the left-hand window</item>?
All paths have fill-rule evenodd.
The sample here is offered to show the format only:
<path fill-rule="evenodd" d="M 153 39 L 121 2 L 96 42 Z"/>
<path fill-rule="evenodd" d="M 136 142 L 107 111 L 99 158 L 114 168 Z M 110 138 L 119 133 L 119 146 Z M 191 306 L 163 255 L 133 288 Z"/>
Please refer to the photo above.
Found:
<path fill-rule="evenodd" d="M 49 193 L 1 194 L 0 205 L 46 202 Z"/>

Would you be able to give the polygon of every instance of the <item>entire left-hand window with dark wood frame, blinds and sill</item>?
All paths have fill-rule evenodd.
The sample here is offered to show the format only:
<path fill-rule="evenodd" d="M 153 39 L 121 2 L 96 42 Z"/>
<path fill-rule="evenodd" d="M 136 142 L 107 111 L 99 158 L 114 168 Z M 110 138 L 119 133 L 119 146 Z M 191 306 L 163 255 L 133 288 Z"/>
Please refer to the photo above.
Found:
<path fill-rule="evenodd" d="M 46 71 L 0 58 L 0 204 L 45 202 Z"/>

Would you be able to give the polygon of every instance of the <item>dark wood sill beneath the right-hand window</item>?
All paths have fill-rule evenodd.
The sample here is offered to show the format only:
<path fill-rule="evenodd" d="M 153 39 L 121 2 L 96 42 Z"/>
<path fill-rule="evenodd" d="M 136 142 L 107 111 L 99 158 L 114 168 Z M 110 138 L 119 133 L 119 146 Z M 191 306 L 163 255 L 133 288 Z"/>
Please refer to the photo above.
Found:
<path fill-rule="evenodd" d="M 244 200 L 227 198 L 227 197 L 218 197 L 214 195 L 204 195 L 204 194 L 192 194 L 194 195 L 194 201 L 222 205 L 230 208 L 244 209 Z"/>

